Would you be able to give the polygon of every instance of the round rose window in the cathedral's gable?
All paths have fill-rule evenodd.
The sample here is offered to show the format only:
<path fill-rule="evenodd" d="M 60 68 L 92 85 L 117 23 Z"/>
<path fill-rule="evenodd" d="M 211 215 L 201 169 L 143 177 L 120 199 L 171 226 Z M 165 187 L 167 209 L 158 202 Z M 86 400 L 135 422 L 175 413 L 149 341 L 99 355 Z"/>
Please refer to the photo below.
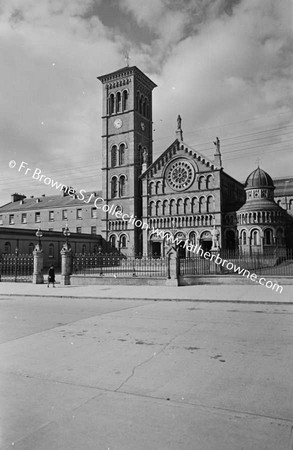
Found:
<path fill-rule="evenodd" d="M 184 191 L 189 188 L 193 180 L 194 168 L 186 159 L 178 159 L 167 168 L 167 184 L 176 191 Z"/>

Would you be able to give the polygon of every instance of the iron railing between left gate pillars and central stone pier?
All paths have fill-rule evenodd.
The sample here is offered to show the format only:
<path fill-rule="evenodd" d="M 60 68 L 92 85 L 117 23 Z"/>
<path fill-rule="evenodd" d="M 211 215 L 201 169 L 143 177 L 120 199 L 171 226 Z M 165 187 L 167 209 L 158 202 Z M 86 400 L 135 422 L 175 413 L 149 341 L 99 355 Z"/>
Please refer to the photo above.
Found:
<path fill-rule="evenodd" d="M 167 259 L 148 256 L 74 255 L 73 275 L 103 277 L 167 277 Z"/>

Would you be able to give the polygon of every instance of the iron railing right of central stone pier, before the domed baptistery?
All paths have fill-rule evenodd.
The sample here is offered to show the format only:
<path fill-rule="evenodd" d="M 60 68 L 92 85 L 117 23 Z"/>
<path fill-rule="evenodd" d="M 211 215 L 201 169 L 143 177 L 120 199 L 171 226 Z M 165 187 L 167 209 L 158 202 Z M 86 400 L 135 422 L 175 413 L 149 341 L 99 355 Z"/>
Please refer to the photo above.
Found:
<path fill-rule="evenodd" d="M 244 269 L 257 275 L 293 276 L 292 249 L 276 249 L 266 253 L 240 253 L 239 251 L 224 250 L 216 255 L 218 255 L 218 259 L 204 258 L 198 255 L 180 258 L 179 274 L 239 276 L 241 275 L 239 271 Z M 228 264 L 227 267 L 227 263 L 231 264 Z M 237 268 L 239 268 L 238 271 Z"/>

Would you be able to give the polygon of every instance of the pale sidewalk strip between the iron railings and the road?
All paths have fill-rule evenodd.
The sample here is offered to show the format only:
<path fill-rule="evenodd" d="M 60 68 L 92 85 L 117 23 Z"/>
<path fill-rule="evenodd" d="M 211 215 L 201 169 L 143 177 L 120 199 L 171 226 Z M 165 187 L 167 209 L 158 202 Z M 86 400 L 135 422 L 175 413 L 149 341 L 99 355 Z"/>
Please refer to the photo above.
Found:
<path fill-rule="evenodd" d="M 178 300 L 236 303 L 293 304 L 293 285 L 285 285 L 282 293 L 259 285 L 199 286 L 63 286 L 47 288 L 46 284 L 0 283 L 1 296 L 62 297 L 93 299 Z"/>

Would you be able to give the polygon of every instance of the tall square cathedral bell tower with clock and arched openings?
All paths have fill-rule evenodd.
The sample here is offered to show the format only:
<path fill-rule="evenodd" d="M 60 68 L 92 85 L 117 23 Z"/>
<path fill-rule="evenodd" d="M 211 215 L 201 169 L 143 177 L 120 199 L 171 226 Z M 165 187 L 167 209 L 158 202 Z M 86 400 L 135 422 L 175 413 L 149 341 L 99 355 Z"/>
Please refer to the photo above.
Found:
<path fill-rule="evenodd" d="M 135 66 L 98 79 L 103 84 L 102 190 L 109 206 L 103 231 L 112 247 L 138 255 L 142 251 L 139 176 L 142 165 L 148 167 L 153 160 L 152 90 L 156 84 Z M 121 212 L 118 218 L 114 211 Z"/>

